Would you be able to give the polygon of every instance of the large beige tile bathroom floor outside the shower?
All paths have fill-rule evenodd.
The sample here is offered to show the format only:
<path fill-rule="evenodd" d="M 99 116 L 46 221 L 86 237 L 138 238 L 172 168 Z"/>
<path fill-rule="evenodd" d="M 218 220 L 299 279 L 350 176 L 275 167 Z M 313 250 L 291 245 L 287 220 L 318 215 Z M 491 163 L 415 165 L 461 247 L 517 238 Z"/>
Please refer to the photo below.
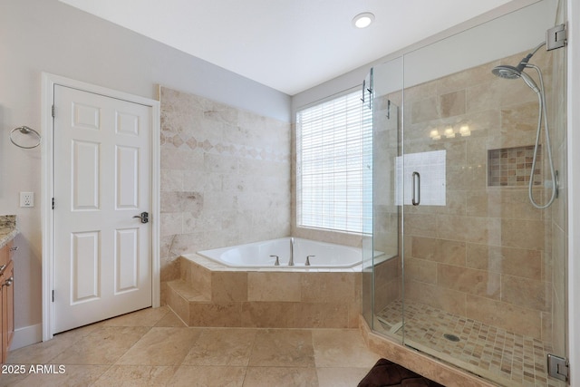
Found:
<path fill-rule="evenodd" d="M 351 387 L 380 357 L 358 330 L 189 328 L 160 307 L 14 350 L 0 386 Z"/>

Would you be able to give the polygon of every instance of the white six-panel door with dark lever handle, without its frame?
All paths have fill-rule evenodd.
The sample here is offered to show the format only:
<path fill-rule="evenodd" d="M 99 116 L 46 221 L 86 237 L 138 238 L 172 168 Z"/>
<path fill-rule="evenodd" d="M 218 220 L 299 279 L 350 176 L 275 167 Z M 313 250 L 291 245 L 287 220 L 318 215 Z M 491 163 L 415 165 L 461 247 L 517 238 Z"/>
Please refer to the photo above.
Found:
<path fill-rule="evenodd" d="M 54 85 L 53 333 L 151 305 L 151 108 Z M 143 214 L 145 215 L 145 214 Z"/>

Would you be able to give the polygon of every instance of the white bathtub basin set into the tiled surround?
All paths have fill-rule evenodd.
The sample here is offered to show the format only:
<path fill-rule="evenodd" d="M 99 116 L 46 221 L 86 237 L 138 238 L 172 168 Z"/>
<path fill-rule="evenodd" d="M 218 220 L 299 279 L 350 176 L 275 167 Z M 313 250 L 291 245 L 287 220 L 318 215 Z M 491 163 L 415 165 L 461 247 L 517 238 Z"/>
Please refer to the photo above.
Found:
<path fill-rule="evenodd" d="M 219 264 L 236 268 L 353 268 L 361 265 L 360 247 L 348 247 L 310 239 L 294 238 L 294 266 L 289 266 L 291 238 L 282 237 L 234 247 L 198 251 Z M 275 256 L 279 266 L 275 266 Z M 310 266 L 306 266 L 310 256 Z"/>

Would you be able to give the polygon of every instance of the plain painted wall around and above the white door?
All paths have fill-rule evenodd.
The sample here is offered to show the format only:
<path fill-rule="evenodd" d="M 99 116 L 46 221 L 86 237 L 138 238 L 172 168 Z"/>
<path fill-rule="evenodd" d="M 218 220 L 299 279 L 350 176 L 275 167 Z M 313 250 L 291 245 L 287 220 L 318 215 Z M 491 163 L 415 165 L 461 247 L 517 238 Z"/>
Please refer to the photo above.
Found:
<path fill-rule="evenodd" d="M 2 0 L 0 12 L 0 214 L 18 217 L 14 243 L 13 348 L 42 338 L 43 147 L 16 148 L 8 134 L 42 133 L 42 72 L 158 98 L 157 84 L 179 87 L 247 111 L 289 121 L 290 96 L 58 0 Z M 35 193 L 34 208 L 18 192 Z"/>

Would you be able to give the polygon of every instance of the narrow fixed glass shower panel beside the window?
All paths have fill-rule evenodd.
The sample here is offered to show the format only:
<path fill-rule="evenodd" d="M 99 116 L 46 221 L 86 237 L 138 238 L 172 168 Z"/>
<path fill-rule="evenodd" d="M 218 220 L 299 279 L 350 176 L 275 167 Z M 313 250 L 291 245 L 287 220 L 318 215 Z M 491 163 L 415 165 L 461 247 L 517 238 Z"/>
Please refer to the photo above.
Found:
<path fill-rule="evenodd" d="M 372 69 L 363 90 L 363 111 L 372 112 L 372 176 L 365 189 L 372 195 L 365 205 L 372 206 L 370 242 L 363 238 L 363 310 L 373 330 L 402 342 L 402 266 L 401 215 L 398 203 L 401 169 L 402 58 Z M 399 196 L 399 198 L 397 198 Z M 365 206 L 366 207 L 366 206 Z M 367 231 L 367 230 L 365 230 Z"/>

